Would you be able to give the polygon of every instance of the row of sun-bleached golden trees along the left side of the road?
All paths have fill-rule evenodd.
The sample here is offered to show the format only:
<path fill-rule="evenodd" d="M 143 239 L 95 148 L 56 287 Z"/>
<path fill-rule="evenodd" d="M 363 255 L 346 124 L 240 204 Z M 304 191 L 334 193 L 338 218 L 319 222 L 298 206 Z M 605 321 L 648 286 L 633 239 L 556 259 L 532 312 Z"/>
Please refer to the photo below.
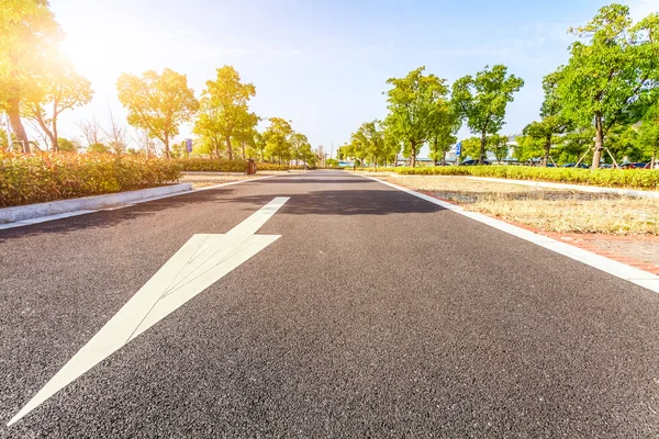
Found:
<path fill-rule="evenodd" d="M 47 1 L 8 1 L 0 8 L 0 110 L 8 114 L 13 134 L 10 137 L 2 130 L 0 147 L 14 144 L 29 153 L 35 142 L 23 126 L 27 120 L 53 151 L 76 150 L 77 142 L 60 137 L 58 121 L 63 112 L 91 101 L 91 83 L 59 52 L 63 33 Z M 122 74 L 116 90 L 127 111 L 127 123 L 136 130 L 135 140 L 147 155 L 156 151 L 154 139 L 166 157 L 187 154 L 180 144 L 172 145 L 172 139 L 183 123 L 193 122 L 198 155 L 228 159 L 237 155 L 278 162 L 315 159 L 308 138 L 294 132 L 290 121 L 270 117 L 264 132 L 257 130 L 261 119 L 249 110 L 256 88 L 243 82 L 232 66 L 216 70 L 199 100 L 186 75 L 169 68 L 161 74 Z M 78 126 L 88 150 L 129 150 L 127 130 L 112 112 L 107 124 L 94 117 Z"/>

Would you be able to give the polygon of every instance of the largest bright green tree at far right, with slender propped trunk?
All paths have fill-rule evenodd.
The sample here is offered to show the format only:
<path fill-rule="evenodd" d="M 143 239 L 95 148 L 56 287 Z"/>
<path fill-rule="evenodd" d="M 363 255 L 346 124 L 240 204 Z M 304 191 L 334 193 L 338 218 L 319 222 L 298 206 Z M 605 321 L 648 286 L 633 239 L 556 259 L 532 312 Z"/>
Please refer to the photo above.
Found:
<path fill-rule="evenodd" d="M 597 168 L 604 137 L 616 124 L 640 119 L 659 80 L 659 14 L 632 25 L 629 8 L 611 4 L 588 24 L 570 29 L 570 47 L 558 94 L 569 119 L 595 128 L 592 167 Z"/>

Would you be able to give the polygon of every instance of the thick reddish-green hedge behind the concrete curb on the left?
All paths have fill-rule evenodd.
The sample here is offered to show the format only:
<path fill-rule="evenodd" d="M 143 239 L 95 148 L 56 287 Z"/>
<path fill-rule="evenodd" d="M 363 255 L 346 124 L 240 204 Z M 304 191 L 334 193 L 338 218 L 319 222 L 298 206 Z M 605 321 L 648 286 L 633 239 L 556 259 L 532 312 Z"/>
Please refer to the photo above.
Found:
<path fill-rule="evenodd" d="M 153 188 L 179 176 L 176 162 L 143 156 L 0 153 L 0 207 Z"/>

